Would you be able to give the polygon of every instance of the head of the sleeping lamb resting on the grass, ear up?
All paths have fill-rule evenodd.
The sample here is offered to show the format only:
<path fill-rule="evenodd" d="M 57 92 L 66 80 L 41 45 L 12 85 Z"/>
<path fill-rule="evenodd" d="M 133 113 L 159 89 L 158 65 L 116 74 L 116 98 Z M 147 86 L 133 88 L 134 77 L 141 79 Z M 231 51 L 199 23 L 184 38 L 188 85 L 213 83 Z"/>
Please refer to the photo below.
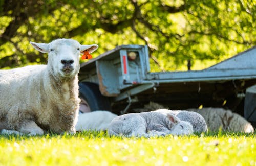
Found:
<path fill-rule="evenodd" d="M 181 121 L 172 113 L 167 114 L 168 120 L 173 124 L 168 134 L 172 135 L 190 135 L 193 134 L 193 126 L 186 121 Z"/>

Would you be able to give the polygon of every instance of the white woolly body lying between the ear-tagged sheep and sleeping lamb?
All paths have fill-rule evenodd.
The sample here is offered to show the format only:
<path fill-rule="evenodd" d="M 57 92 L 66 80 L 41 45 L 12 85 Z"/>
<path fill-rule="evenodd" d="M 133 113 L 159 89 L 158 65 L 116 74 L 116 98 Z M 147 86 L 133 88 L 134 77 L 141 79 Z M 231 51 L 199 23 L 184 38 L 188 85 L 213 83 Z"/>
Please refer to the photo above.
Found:
<path fill-rule="evenodd" d="M 78 116 L 76 131 L 83 130 L 107 130 L 111 121 L 117 115 L 109 111 L 93 111 L 81 113 Z"/>

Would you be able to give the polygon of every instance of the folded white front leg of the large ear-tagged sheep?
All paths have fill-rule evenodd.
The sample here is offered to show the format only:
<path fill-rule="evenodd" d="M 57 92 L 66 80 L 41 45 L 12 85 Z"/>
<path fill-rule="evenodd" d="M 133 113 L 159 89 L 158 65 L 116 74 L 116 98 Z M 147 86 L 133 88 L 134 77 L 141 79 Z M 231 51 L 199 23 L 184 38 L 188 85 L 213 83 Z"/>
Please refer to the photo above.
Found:
<path fill-rule="evenodd" d="M 29 135 L 42 135 L 44 130 L 42 130 L 34 121 L 29 121 L 22 125 L 19 132 L 26 133 Z"/>

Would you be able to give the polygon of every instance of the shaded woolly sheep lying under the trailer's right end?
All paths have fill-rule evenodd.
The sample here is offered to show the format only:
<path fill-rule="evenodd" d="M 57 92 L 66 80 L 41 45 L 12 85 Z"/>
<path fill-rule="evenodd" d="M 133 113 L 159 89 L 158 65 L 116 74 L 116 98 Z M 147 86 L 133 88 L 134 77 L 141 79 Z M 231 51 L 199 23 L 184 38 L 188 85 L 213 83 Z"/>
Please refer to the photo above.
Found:
<path fill-rule="evenodd" d="M 218 131 L 220 128 L 223 131 L 238 131 L 250 133 L 254 132 L 253 126 L 237 113 L 223 108 L 202 108 L 188 109 L 201 114 L 210 131 Z"/>

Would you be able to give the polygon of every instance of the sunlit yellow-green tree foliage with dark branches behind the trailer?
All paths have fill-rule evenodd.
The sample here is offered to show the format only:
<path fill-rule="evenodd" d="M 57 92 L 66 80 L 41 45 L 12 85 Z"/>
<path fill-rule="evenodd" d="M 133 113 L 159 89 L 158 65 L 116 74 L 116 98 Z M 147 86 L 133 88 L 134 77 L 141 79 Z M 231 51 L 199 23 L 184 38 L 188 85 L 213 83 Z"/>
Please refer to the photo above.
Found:
<path fill-rule="evenodd" d="M 153 70 L 193 69 L 255 45 L 253 0 L 0 1 L 0 68 L 46 63 L 29 41 L 74 38 L 99 55 L 120 44 L 147 44 Z"/>

